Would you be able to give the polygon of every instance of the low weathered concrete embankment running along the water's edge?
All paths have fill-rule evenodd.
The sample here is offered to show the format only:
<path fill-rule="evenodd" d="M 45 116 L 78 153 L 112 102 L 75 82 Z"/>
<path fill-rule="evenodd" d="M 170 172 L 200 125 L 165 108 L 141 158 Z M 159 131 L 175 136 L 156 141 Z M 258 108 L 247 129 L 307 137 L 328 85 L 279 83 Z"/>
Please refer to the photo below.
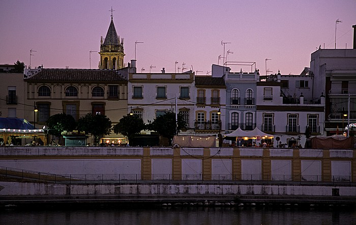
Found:
<path fill-rule="evenodd" d="M 0 182 L 0 205 L 27 204 L 347 204 L 354 186 L 224 184 L 55 184 Z"/>

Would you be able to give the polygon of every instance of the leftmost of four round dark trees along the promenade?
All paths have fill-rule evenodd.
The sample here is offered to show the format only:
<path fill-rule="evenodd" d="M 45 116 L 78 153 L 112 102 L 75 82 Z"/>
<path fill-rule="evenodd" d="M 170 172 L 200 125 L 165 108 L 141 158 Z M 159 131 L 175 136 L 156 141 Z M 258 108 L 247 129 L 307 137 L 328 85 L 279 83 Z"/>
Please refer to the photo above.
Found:
<path fill-rule="evenodd" d="M 62 131 L 72 131 L 76 127 L 76 122 L 71 115 L 55 114 L 47 120 L 48 133 L 57 137 L 61 136 Z"/>

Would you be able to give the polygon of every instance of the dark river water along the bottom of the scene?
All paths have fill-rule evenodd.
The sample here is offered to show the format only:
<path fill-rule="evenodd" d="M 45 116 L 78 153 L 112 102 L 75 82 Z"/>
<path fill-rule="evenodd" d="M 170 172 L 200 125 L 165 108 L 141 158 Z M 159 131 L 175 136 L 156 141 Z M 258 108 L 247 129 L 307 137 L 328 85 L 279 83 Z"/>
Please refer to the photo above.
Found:
<path fill-rule="evenodd" d="M 9 209 L 0 211 L 0 224 L 356 224 L 356 210 L 284 206 Z"/>

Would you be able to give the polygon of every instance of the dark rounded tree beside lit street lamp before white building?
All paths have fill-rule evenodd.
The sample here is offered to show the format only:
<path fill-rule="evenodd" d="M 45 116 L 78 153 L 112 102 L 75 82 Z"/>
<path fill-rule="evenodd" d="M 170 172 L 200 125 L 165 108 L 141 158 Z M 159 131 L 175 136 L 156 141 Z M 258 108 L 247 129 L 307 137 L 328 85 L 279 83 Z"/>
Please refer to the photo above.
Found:
<path fill-rule="evenodd" d="M 127 115 L 120 119 L 120 121 L 113 126 L 115 134 L 121 133 L 128 137 L 129 142 L 132 138 L 139 134 L 141 130 L 144 130 L 146 125 L 142 118 L 138 115 Z"/>

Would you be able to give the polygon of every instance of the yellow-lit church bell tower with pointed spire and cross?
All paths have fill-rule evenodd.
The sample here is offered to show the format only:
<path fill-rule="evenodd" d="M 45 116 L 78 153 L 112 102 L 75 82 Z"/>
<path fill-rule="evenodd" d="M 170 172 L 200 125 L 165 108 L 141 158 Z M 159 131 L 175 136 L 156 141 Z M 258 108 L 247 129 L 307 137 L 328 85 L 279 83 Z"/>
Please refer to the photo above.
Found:
<path fill-rule="evenodd" d="M 101 36 L 100 40 L 100 63 L 99 69 L 121 69 L 124 67 L 124 40 L 117 35 L 114 22 L 112 20 L 106 33 L 105 39 Z"/>

